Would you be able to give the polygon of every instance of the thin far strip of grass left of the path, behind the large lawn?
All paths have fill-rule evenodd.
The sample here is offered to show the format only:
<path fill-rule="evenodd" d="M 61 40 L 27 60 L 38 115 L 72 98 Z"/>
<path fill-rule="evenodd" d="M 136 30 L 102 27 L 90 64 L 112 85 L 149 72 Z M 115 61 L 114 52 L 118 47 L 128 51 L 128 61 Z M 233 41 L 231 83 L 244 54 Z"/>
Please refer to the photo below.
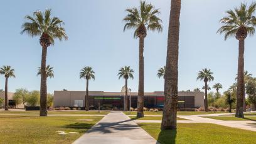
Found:
<path fill-rule="evenodd" d="M 49 115 L 107 115 L 109 111 L 48 111 Z M 39 115 L 39 111 L 0 111 L 1 114 Z"/>

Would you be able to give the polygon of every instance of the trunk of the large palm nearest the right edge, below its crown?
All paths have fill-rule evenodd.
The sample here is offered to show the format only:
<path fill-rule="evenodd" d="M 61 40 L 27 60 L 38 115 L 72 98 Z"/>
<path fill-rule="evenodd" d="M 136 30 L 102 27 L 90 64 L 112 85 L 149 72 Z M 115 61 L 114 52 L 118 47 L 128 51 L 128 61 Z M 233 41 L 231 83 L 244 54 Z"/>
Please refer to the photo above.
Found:
<path fill-rule="evenodd" d="M 243 94 L 245 93 L 245 83 L 243 79 L 245 40 L 239 40 L 238 72 L 237 72 L 237 110 L 235 116 L 243 118 Z"/>

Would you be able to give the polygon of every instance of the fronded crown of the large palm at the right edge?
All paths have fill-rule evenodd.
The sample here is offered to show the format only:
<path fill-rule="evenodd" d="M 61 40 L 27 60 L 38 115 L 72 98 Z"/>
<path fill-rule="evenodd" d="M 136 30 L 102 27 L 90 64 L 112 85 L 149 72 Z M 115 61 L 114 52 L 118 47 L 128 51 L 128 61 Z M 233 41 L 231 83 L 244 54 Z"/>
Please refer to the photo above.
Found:
<path fill-rule="evenodd" d="M 255 33 L 256 18 L 253 16 L 256 10 L 256 3 L 242 3 L 239 8 L 229 10 L 226 13 L 228 16 L 222 18 L 220 23 L 223 24 L 217 33 L 225 33 L 225 40 L 235 36 L 238 40 L 245 39 L 247 34 Z"/>

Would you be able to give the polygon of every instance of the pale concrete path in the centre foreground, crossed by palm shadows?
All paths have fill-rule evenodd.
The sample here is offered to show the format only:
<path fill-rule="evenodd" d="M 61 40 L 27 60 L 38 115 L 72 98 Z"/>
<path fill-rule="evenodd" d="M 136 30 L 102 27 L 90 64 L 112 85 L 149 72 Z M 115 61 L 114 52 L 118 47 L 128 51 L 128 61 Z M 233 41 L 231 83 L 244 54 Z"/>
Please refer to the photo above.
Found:
<path fill-rule="evenodd" d="M 111 112 L 73 144 L 156 144 L 157 141 L 122 112 Z M 159 144 L 159 143 L 158 143 Z"/>

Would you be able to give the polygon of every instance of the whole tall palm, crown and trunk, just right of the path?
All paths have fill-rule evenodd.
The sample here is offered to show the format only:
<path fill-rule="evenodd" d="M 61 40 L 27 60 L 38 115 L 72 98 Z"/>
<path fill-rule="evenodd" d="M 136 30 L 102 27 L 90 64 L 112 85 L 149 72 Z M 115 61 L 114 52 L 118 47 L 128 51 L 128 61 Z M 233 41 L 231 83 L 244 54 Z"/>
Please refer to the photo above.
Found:
<path fill-rule="evenodd" d="M 134 38 L 139 38 L 139 89 L 137 100 L 137 117 L 143 117 L 144 106 L 144 38 L 147 36 L 147 31 L 163 31 L 162 21 L 158 17 L 159 9 L 155 9 L 152 4 L 147 4 L 141 1 L 139 9 L 126 9 L 127 16 L 123 19 L 125 21 L 124 31 L 126 29 L 135 29 Z"/>

